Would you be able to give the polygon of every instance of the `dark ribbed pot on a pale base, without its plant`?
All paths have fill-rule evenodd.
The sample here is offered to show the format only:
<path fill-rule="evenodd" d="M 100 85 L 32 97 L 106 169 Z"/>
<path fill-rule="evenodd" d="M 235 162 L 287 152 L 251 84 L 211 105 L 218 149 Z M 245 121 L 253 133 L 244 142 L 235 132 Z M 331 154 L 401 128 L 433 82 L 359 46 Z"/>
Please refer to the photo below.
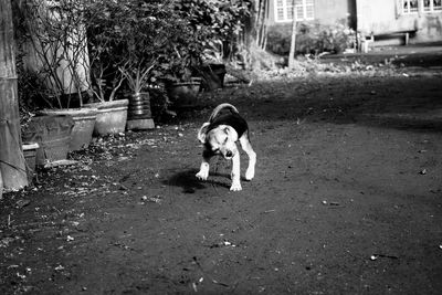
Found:
<path fill-rule="evenodd" d="M 155 128 L 150 110 L 149 93 L 134 93 L 129 97 L 129 107 L 127 109 L 127 129 L 143 130 Z"/>

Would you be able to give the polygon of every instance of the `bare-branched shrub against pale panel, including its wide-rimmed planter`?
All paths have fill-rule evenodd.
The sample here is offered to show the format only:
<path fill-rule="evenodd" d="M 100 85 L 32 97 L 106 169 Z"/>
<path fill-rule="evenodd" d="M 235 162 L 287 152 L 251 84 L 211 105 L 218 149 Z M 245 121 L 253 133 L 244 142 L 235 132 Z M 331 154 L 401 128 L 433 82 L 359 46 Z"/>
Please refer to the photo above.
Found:
<path fill-rule="evenodd" d="M 24 66 L 38 77 L 45 106 L 39 115 L 69 115 L 75 125 L 71 150 L 92 139 L 96 112 L 83 108 L 90 89 L 90 66 L 83 7 L 80 1 L 28 1 L 22 7 L 29 39 Z"/>

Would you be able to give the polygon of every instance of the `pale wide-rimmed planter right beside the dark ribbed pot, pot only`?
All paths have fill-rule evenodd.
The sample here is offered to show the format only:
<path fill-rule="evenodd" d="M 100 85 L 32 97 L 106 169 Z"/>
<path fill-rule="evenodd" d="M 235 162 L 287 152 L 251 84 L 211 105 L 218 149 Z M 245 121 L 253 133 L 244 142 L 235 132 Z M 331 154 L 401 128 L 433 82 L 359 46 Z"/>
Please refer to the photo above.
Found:
<path fill-rule="evenodd" d="M 124 133 L 127 123 L 128 104 L 129 99 L 118 99 L 84 105 L 85 107 L 97 109 L 94 135 L 104 136 Z"/>

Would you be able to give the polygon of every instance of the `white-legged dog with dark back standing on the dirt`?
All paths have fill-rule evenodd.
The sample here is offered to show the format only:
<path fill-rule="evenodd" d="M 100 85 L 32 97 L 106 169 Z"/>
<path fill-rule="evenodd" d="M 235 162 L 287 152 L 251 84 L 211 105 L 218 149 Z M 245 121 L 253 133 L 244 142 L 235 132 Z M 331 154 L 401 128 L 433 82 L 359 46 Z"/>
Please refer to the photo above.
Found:
<path fill-rule="evenodd" d="M 202 162 L 200 171 L 196 175 L 200 180 L 209 177 L 209 161 L 213 156 L 222 156 L 232 160 L 230 190 L 239 191 L 241 187 L 240 151 L 236 147 L 239 140 L 242 149 L 249 156 L 249 167 L 245 179 L 252 180 L 255 176 L 256 154 L 249 139 L 249 126 L 240 116 L 236 107 L 231 104 L 220 104 L 210 115 L 209 122 L 202 124 L 198 131 L 198 139 L 203 144 Z"/>

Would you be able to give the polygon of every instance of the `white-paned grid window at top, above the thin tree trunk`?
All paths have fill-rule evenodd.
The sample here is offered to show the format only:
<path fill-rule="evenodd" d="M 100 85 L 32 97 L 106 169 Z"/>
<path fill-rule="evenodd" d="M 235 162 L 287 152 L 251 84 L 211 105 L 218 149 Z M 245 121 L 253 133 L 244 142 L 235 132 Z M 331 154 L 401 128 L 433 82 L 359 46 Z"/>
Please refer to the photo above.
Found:
<path fill-rule="evenodd" d="M 295 4 L 295 20 L 313 20 L 315 12 L 314 0 L 276 0 L 275 20 L 285 22 L 293 20 L 293 4 Z"/>

